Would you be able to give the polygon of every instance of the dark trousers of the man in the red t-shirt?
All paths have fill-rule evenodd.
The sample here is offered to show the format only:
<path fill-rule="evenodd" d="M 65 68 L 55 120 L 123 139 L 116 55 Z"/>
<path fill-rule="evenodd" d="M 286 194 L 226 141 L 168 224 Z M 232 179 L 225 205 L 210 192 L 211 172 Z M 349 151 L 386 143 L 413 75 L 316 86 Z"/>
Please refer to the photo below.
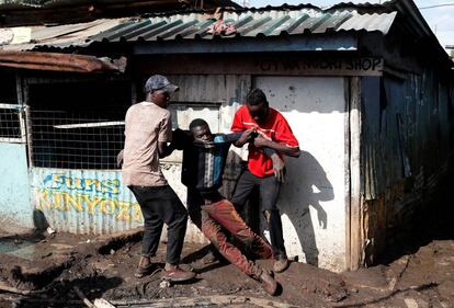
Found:
<path fill-rule="evenodd" d="M 286 256 L 281 214 L 276 206 L 281 183 L 276 181 L 274 175 L 258 178 L 249 170 L 245 170 L 237 182 L 231 203 L 237 208 L 242 208 L 254 186 L 259 186 L 260 190 L 261 206 L 270 229 L 274 258 Z"/>

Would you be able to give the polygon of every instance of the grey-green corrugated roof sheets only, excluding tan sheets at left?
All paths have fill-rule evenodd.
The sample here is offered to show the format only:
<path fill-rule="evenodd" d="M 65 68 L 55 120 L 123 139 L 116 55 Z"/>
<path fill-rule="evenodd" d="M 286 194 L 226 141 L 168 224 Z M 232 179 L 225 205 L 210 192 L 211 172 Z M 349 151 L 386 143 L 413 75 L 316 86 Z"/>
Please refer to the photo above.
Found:
<path fill-rule="evenodd" d="M 337 31 L 378 31 L 387 34 L 395 18 L 396 12 L 360 14 L 355 11 L 326 12 L 318 9 L 225 12 L 224 21 L 232 23 L 236 33 L 220 36 L 276 36 Z M 214 35 L 207 28 L 215 21 L 201 13 L 155 16 L 128 21 L 90 38 L 109 42 L 213 38 Z"/>

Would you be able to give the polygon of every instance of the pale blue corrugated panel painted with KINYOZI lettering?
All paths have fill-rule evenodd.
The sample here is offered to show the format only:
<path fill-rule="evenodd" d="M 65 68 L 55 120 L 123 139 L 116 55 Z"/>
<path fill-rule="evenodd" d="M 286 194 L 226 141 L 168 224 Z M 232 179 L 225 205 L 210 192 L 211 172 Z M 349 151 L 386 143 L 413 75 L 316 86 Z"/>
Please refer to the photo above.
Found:
<path fill-rule="evenodd" d="M 32 204 L 58 231 L 102 235 L 143 225 L 121 172 L 32 168 Z"/>

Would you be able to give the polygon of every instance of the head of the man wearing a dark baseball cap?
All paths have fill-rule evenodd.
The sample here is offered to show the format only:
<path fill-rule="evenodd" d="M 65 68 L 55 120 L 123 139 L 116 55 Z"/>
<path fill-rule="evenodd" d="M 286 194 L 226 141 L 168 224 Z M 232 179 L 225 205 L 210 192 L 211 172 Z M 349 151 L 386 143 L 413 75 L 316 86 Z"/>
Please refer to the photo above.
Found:
<path fill-rule="evenodd" d="M 166 109 L 169 104 L 170 94 L 178 91 L 179 88 L 171 84 L 167 77 L 154 75 L 145 82 L 145 94 L 147 101 Z"/>

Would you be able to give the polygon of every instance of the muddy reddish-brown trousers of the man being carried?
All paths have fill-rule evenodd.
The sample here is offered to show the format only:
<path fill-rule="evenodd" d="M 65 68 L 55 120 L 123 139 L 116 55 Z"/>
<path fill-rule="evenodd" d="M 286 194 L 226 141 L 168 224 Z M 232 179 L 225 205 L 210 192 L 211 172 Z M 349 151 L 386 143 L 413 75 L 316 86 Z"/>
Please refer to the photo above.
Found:
<path fill-rule="evenodd" d="M 228 241 L 223 228 L 248 246 L 260 259 L 271 258 L 272 248 L 246 225 L 230 202 L 220 196 L 205 205 L 204 197 L 196 190 L 188 189 L 188 210 L 191 220 L 225 259 L 248 276 L 260 278 L 262 269 Z"/>

